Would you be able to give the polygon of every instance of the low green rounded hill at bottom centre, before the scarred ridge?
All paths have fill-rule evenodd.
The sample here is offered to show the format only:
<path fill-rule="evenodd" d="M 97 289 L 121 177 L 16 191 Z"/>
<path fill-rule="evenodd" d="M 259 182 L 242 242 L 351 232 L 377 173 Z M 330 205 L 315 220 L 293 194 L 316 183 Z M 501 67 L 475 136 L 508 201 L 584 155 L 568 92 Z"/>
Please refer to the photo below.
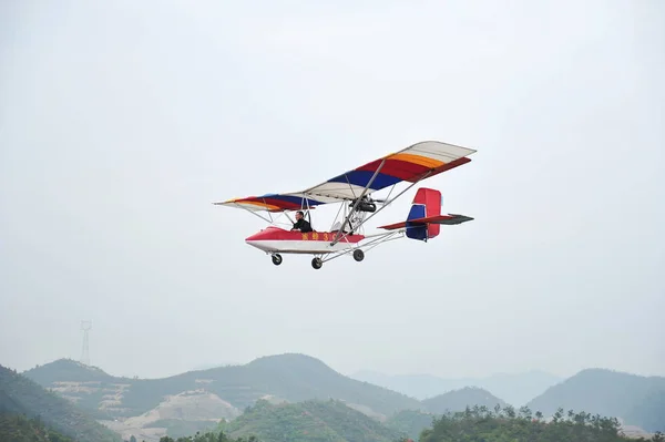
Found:
<path fill-rule="evenodd" d="M 337 400 L 257 403 L 219 425 L 232 438 L 255 435 L 262 442 L 393 442 L 402 434 Z"/>

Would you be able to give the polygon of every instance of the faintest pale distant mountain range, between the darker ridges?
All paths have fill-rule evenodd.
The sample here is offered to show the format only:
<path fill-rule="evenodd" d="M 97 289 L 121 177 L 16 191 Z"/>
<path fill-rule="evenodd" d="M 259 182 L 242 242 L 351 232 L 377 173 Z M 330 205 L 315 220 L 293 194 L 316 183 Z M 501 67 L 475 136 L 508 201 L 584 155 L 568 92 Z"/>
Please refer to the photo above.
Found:
<path fill-rule="evenodd" d="M 507 402 L 520 407 L 562 381 L 561 378 L 544 371 L 523 373 L 498 373 L 487 378 L 443 379 L 432 374 L 383 374 L 361 370 L 351 374 L 360 381 L 399 391 L 412 398 L 427 399 L 463 387 L 479 387 L 490 391 Z"/>

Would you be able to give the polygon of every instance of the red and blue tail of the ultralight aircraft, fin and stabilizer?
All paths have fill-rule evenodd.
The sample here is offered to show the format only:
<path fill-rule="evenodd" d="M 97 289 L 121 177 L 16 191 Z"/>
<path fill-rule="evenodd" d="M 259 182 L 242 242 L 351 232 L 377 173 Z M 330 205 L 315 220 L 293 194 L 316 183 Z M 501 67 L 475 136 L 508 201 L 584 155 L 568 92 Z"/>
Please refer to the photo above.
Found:
<path fill-rule="evenodd" d="M 473 219 L 464 215 L 441 215 L 442 205 L 441 192 L 421 187 L 413 197 L 406 222 L 379 228 L 387 230 L 406 228 L 408 238 L 427 241 L 439 236 L 441 224 L 454 225 Z"/>

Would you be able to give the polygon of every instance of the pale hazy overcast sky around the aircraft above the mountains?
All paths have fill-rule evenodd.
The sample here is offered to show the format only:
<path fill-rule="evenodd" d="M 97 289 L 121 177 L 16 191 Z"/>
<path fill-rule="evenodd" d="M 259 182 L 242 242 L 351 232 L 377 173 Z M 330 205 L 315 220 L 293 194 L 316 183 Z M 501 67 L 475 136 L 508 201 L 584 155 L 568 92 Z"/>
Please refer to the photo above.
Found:
<path fill-rule="evenodd" d="M 663 79 L 658 0 L 4 1 L 0 363 L 79 359 L 90 319 L 113 374 L 665 376 Z M 211 204 L 422 140 L 478 150 L 422 183 L 475 218 L 428 244 L 276 267 Z"/>

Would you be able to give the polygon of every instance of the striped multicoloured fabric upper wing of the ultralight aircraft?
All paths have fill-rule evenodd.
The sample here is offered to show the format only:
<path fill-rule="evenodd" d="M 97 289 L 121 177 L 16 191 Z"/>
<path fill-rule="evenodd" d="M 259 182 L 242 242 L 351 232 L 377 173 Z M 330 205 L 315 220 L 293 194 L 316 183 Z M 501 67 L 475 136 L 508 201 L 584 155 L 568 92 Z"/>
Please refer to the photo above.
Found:
<path fill-rule="evenodd" d="M 217 205 L 239 206 L 250 210 L 297 210 L 321 204 L 339 203 L 380 191 L 400 182 L 417 183 L 469 163 L 474 150 L 437 141 L 413 144 L 397 153 L 375 160 L 303 192 L 266 194 L 228 199 Z M 378 171 L 378 173 L 377 173 Z M 372 176 L 376 176 L 372 181 Z M 371 184 L 368 187 L 368 184 Z"/>

